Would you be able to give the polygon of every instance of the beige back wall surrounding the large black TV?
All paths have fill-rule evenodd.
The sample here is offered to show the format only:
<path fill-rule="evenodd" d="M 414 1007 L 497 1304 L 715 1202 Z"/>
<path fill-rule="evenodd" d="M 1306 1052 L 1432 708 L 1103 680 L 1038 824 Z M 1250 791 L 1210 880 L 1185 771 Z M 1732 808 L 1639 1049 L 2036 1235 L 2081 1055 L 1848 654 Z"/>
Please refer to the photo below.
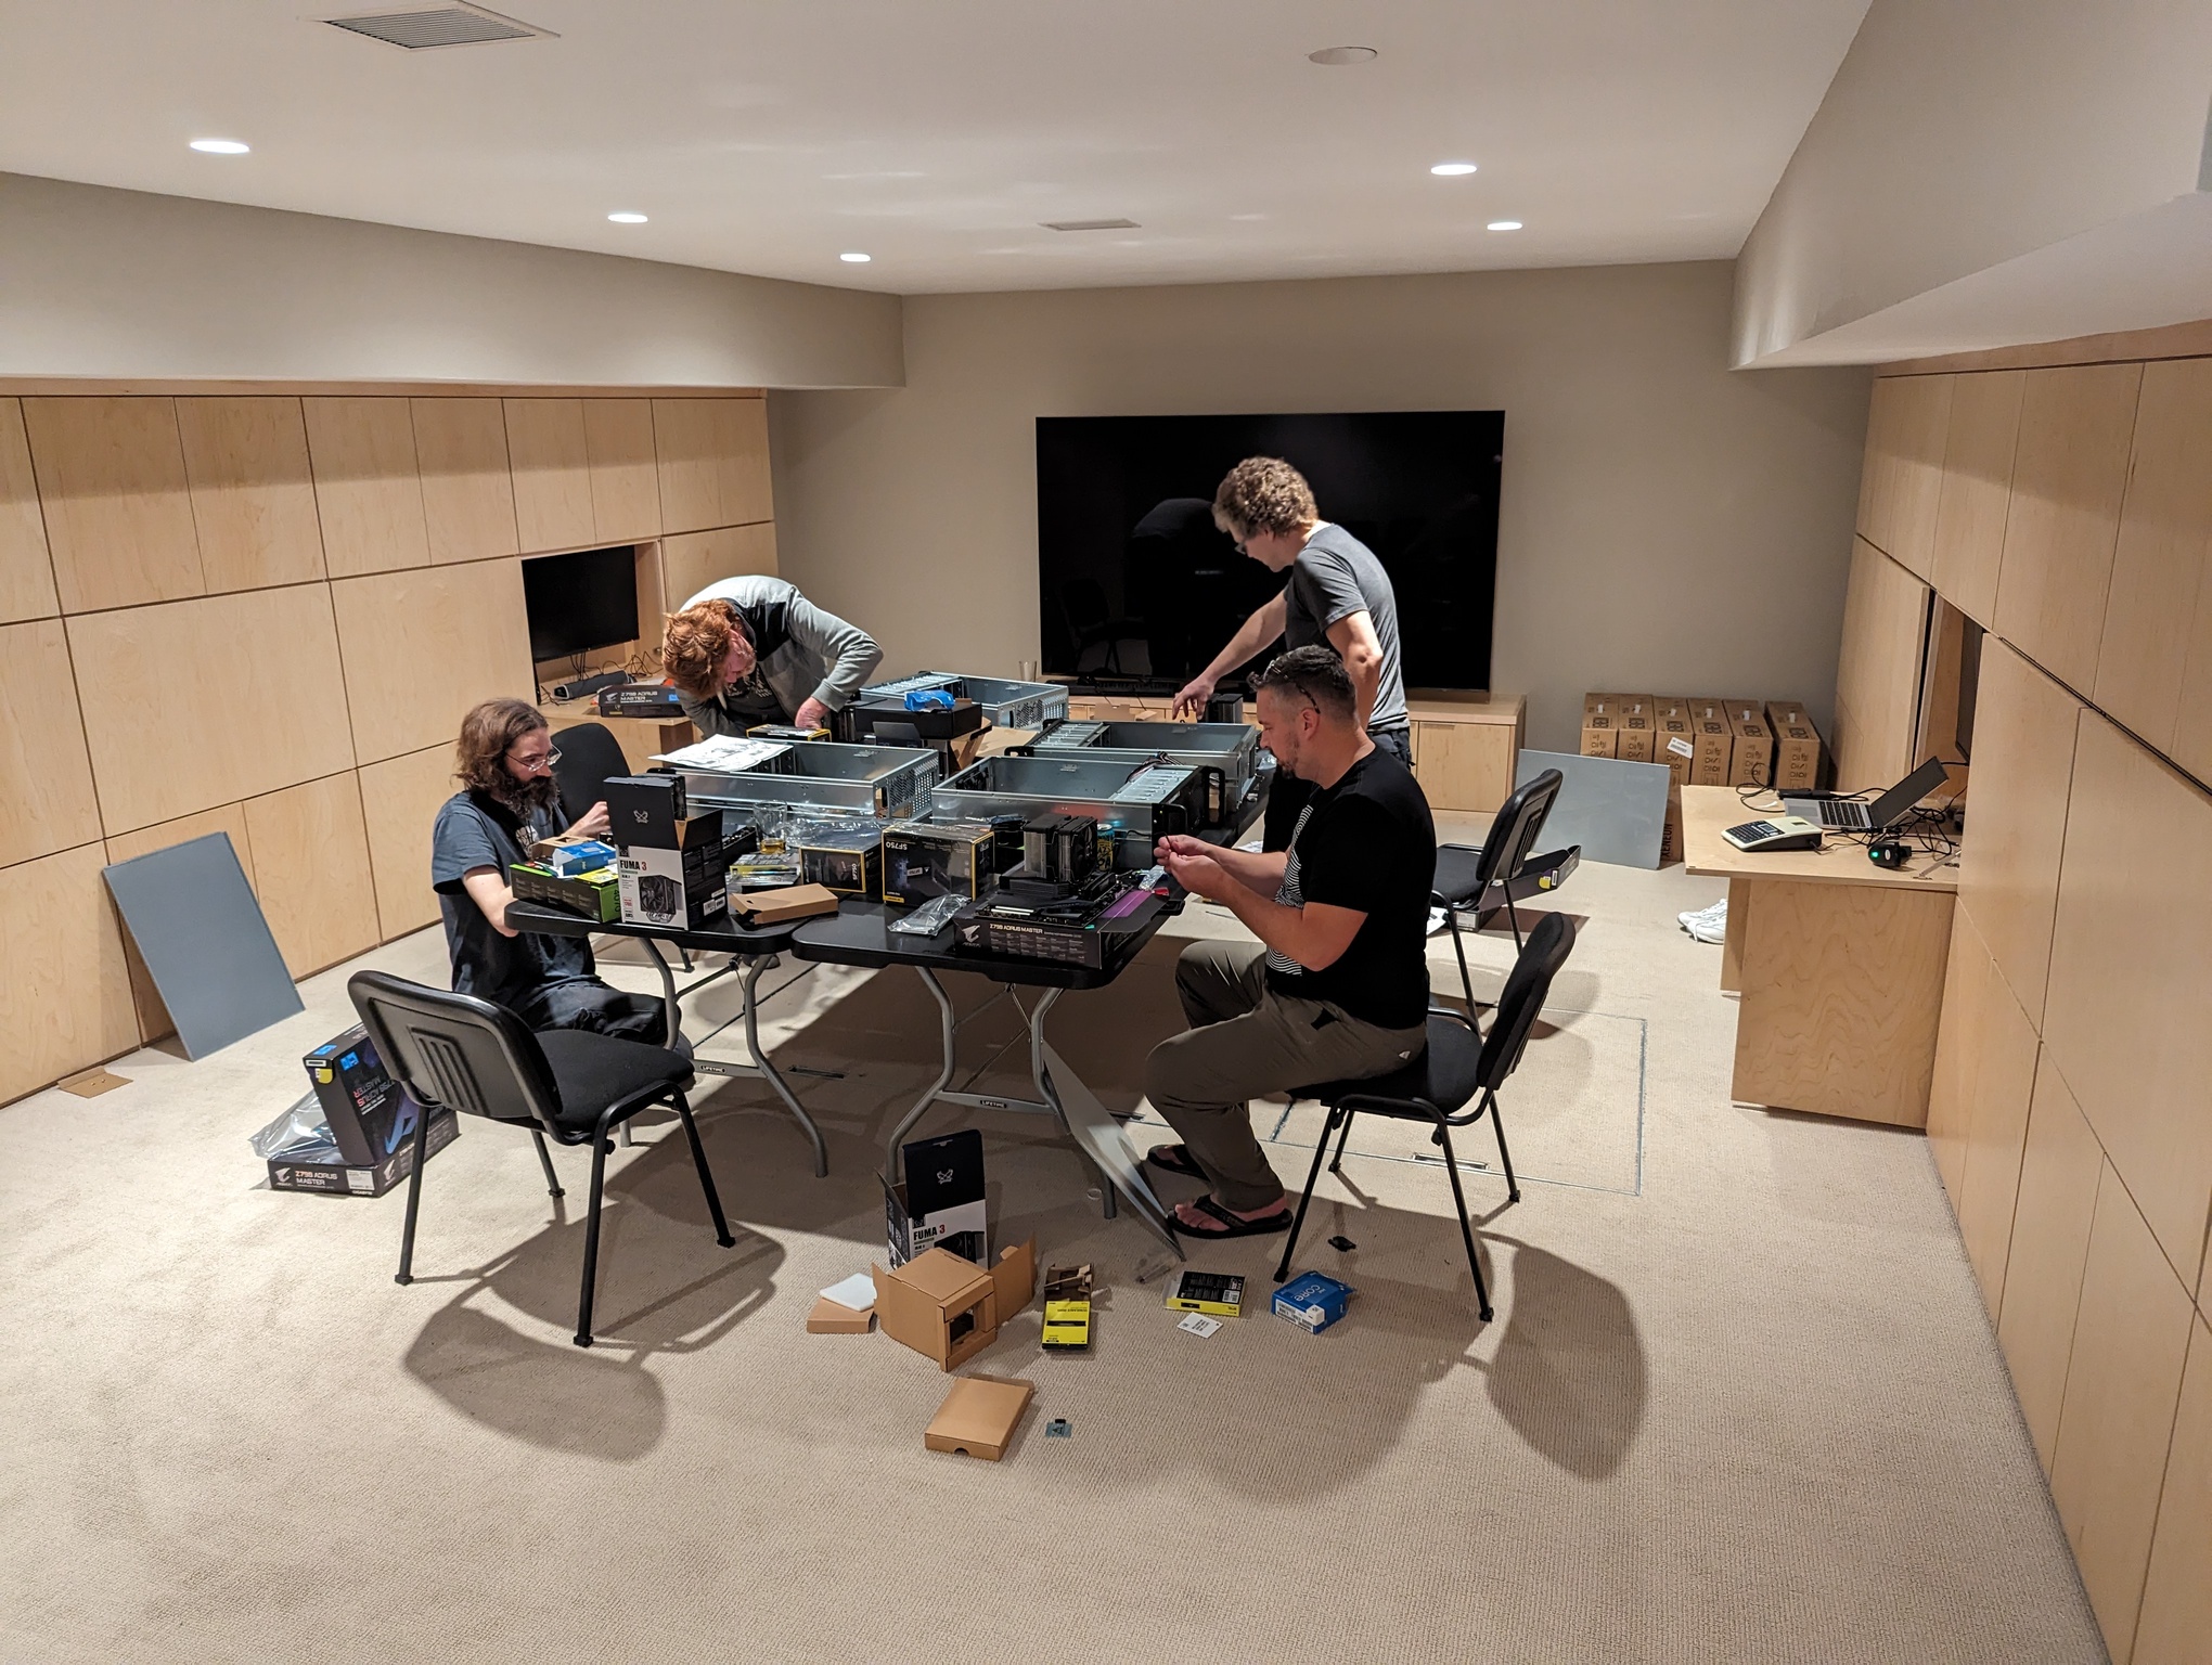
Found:
<path fill-rule="evenodd" d="M 887 668 L 1037 652 L 1037 416 L 1504 409 L 1493 685 L 1825 714 L 1869 378 L 1732 374 L 1730 265 L 907 299 L 898 391 L 772 394 L 781 570 Z M 1327 513 L 1327 504 L 1321 504 Z M 1405 606 L 1405 599 L 1400 599 Z"/>

